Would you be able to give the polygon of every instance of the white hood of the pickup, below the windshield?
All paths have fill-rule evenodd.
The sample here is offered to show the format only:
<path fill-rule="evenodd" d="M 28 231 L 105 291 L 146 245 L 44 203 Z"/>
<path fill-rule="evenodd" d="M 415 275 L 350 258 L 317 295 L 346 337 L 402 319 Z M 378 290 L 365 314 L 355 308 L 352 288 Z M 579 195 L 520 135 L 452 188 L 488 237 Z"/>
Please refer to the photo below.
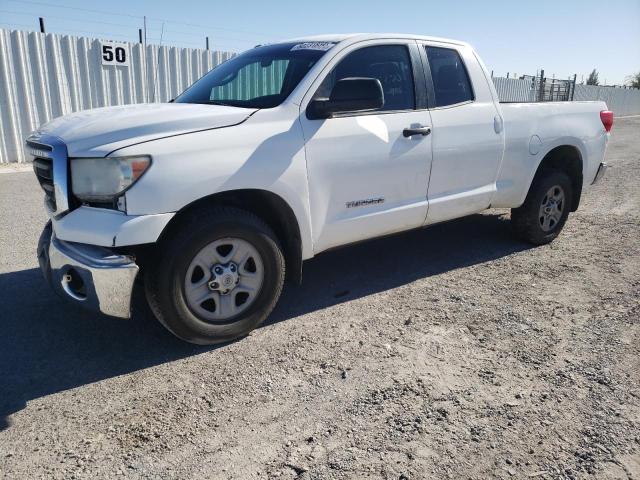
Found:
<path fill-rule="evenodd" d="M 191 103 L 122 105 L 58 117 L 37 133 L 62 139 L 70 157 L 97 157 L 134 143 L 237 125 L 255 111 Z"/>

